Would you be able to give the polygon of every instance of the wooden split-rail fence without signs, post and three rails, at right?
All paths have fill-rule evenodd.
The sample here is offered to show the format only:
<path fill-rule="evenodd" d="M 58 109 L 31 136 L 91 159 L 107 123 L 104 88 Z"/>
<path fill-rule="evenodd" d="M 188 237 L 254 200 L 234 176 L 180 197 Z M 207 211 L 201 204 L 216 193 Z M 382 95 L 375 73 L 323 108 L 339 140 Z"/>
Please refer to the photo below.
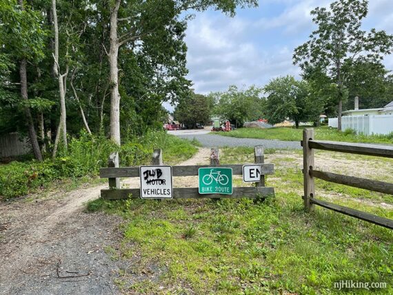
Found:
<path fill-rule="evenodd" d="M 374 223 L 393 229 L 393 220 L 383 218 L 367 212 L 354 210 L 349 207 L 336 205 L 327 201 L 316 199 L 314 179 L 322 179 L 331 183 L 338 183 L 341 185 L 349 185 L 351 187 L 358 187 L 364 190 L 372 190 L 374 192 L 381 192 L 383 194 L 393 194 L 393 183 L 386 183 L 383 181 L 375 181 L 372 179 L 363 179 L 360 177 L 347 176 L 342 174 L 335 174 L 331 172 L 323 172 L 315 169 L 314 150 L 329 150 L 333 152 L 345 152 L 350 154 L 364 154 L 368 156 L 383 156 L 386 158 L 393 158 L 393 146 L 387 145 L 370 145 L 363 143 L 342 143 L 335 141 L 316 141 L 314 139 L 314 130 L 303 130 L 303 181 L 304 181 L 304 206 L 305 210 L 312 212 L 315 205 L 325 207 L 329 210 L 334 210 L 342 214 L 346 214 L 363 221 Z"/>

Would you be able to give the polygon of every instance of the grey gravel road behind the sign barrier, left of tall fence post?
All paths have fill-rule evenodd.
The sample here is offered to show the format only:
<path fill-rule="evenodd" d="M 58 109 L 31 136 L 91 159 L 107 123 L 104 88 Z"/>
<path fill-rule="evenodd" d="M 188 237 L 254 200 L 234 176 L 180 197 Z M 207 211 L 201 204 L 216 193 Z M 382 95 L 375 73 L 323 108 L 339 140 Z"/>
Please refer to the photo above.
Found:
<path fill-rule="evenodd" d="M 268 139 L 237 139 L 235 137 L 221 136 L 216 134 L 174 134 L 183 139 L 196 139 L 206 148 L 220 148 L 224 146 L 239 147 L 263 145 L 263 148 L 276 148 L 285 150 L 300 150 L 300 141 L 278 141 Z"/>

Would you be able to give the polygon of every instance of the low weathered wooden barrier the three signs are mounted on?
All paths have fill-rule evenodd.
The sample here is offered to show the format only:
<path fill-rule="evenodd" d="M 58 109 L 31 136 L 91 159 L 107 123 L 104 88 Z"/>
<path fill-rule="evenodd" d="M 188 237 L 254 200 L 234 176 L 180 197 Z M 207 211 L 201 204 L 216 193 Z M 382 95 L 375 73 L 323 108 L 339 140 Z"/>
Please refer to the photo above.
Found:
<path fill-rule="evenodd" d="M 199 194 L 199 187 L 174 187 L 173 199 L 265 199 L 274 196 L 273 187 L 265 187 L 265 175 L 274 173 L 273 164 L 264 163 L 263 147 L 254 148 L 254 162 L 261 165 L 259 182 L 254 186 L 233 187 L 232 194 Z M 162 151 L 154 150 L 152 165 L 163 165 Z M 210 152 L 210 165 L 176 165 L 172 166 L 172 176 L 198 176 L 199 168 L 205 167 L 228 167 L 232 168 L 233 175 L 243 174 L 243 165 L 220 165 L 219 150 L 212 149 Z M 100 177 L 109 179 L 109 189 L 101 190 L 101 197 L 107 200 L 137 199 L 140 197 L 140 188 L 121 188 L 121 177 L 140 177 L 139 167 L 119 167 L 119 154 L 110 154 L 108 167 L 100 169 Z"/>

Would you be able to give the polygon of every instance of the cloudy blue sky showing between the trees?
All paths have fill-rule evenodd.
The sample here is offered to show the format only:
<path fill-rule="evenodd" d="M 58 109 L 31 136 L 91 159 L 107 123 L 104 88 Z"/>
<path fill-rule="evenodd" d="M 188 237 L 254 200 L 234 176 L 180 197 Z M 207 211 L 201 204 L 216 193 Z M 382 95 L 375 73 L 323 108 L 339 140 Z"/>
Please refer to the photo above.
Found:
<path fill-rule="evenodd" d="M 188 22 L 188 79 L 196 93 L 208 94 L 229 85 L 263 86 L 286 74 L 299 77 L 292 65 L 296 46 L 308 40 L 315 28 L 310 10 L 328 6 L 325 0 L 260 0 L 259 8 L 238 10 L 225 17 L 212 10 L 196 13 Z M 393 0 L 371 0 L 363 29 L 393 34 Z M 392 55 L 384 61 L 393 70 Z"/>

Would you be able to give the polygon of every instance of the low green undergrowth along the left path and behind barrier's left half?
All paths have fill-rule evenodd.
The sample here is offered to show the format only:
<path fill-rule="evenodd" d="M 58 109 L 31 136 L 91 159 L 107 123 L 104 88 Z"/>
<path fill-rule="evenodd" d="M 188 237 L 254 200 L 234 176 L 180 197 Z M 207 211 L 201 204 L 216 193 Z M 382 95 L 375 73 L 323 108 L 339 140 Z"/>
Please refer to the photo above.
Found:
<path fill-rule="evenodd" d="M 53 181 L 97 176 L 99 167 L 105 167 L 111 152 L 119 150 L 122 166 L 150 163 L 154 148 L 163 149 L 165 163 L 177 163 L 190 158 L 196 148 L 188 141 L 165 132 L 148 132 L 145 136 L 125 143 L 121 148 L 103 136 L 82 132 L 79 139 L 72 139 L 68 154 L 59 155 L 54 161 L 18 162 L 0 165 L 0 198 L 23 196 L 37 189 L 50 187 Z"/>

